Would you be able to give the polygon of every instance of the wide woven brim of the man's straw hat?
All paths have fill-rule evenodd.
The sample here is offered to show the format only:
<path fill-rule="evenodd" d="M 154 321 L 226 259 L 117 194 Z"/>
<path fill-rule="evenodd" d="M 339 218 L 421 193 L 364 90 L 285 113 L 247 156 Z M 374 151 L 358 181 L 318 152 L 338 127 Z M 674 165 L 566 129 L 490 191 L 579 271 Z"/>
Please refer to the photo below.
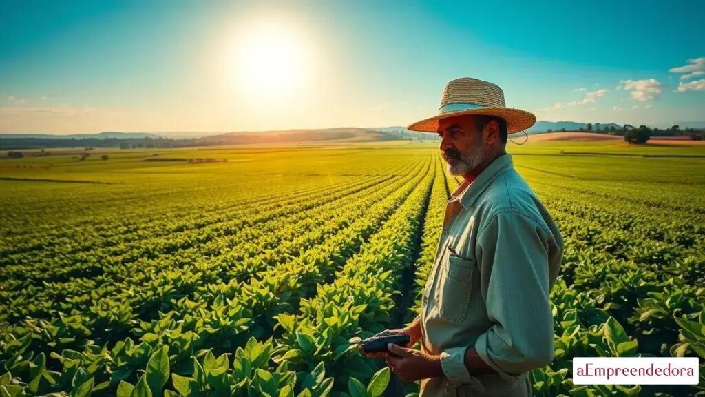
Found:
<path fill-rule="evenodd" d="M 483 107 L 482 109 L 467 109 L 439 114 L 438 116 L 429 117 L 428 119 L 423 119 L 420 122 L 415 122 L 406 128 L 411 131 L 438 133 L 439 120 L 465 115 L 501 117 L 507 122 L 507 134 L 515 134 L 517 132 L 524 131 L 525 129 L 536 124 L 536 116 L 526 110 L 514 109 L 512 107 Z"/>

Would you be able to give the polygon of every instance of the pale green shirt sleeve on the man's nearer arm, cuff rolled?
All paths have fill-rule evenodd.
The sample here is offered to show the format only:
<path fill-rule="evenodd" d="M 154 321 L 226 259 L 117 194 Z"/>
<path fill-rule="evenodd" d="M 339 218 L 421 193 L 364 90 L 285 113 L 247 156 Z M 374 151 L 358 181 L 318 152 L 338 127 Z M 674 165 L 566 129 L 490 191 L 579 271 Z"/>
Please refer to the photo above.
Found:
<path fill-rule="evenodd" d="M 552 236 L 518 212 L 494 215 L 476 240 L 487 316 L 494 323 L 474 348 L 502 378 L 548 365 L 553 349 L 553 316 L 548 294 L 548 244 Z"/>

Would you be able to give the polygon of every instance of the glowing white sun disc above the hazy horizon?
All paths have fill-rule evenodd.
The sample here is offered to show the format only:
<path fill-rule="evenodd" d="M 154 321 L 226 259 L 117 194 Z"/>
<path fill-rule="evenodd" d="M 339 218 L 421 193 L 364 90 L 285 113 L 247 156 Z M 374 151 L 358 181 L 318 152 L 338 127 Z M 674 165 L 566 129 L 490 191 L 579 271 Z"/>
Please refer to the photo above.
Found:
<path fill-rule="evenodd" d="M 236 89 L 247 95 L 276 100 L 295 95 L 305 83 L 305 40 L 289 26 L 254 25 L 238 35 L 235 49 Z"/>

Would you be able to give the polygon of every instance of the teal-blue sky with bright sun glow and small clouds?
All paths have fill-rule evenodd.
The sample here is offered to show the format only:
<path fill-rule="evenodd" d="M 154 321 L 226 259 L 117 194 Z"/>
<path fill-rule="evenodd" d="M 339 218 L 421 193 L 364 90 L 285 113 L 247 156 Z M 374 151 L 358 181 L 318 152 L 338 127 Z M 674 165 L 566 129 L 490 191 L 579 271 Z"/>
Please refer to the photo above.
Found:
<path fill-rule="evenodd" d="M 705 121 L 704 1 L 0 0 L 0 132 L 407 126 L 446 81 L 540 120 Z"/>

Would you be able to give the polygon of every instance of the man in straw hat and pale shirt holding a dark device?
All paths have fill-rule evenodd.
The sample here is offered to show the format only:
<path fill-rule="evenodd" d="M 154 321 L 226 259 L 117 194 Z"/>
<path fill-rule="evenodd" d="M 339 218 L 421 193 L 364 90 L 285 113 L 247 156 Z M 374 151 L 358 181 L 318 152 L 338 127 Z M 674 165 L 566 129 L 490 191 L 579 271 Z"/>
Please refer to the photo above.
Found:
<path fill-rule="evenodd" d="M 535 122 L 505 107 L 497 85 L 459 78 L 443 89 L 436 117 L 408 127 L 439 134 L 449 172 L 465 179 L 448 200 L 421 314 L 383 333 L 410 343 L 368 356 L 421 380 L 422 397 L 531 396 L 528 372 L 553 360 L 548 294 L 563 239 L 505 151 L 508 134 Z"/>

